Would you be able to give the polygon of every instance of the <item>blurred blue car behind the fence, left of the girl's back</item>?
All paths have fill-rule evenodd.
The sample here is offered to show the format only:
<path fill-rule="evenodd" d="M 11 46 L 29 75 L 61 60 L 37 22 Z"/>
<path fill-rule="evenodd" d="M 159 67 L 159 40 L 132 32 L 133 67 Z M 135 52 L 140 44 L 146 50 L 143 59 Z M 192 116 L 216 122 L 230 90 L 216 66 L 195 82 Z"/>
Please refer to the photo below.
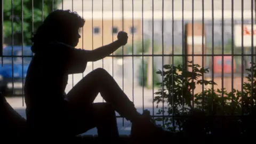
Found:
<path fill-rule="evenodd" d="M 33 53 L 30 46 L 23 46 L 23 53 L 22 46 L 6 46 L 3 55 L 0 57 L 0 90 L 5 96 L 20 95 Z"/>

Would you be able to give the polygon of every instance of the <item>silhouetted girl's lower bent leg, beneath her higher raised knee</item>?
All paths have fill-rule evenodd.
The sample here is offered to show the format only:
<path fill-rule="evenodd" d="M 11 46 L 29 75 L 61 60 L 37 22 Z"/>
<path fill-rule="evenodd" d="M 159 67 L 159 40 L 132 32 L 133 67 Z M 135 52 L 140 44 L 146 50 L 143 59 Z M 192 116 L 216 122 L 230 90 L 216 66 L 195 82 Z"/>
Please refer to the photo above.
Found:
<path fill-rule="evenodd" d="M 74 135 L 82 134 L 97 127 L 99 138 L 102 140 L 111 142 L 118 140 L 116 113 L 110 103 L 93 103 L 86 109 L 71 108 L 70 110 L 70 131 L 74 132 Z"/>

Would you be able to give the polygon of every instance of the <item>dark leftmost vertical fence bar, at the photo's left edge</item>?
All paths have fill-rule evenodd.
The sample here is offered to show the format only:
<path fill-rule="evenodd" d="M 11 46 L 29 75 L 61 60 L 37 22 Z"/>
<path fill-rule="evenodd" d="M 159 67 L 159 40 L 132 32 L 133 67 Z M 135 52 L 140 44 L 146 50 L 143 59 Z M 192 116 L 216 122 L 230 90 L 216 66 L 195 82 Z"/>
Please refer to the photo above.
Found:
<path fill-rule="evenodd" d="M 2 67 L 3 67 L 3 46 L 4 46 L 4 0 L 0 1 L 0 20 L 1 20 L 1 26 L 0 26 L 0 55 L 2 57 Z"/>

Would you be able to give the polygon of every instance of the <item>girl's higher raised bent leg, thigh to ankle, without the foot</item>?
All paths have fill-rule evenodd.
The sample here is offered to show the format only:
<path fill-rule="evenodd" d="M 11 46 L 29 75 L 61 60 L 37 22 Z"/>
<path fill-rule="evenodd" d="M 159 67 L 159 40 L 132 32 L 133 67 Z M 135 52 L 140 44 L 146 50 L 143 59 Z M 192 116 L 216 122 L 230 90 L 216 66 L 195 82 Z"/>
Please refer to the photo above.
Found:
<path fill-rule="evenodd" d="M 127 120 L 133 121 L 140 116 L 133 102 L 129 100 L 115 79 L 102 68 L 87 74 L 67 95 L 70 105 L 82 108 L 91 105 L 98 93 Z"/>

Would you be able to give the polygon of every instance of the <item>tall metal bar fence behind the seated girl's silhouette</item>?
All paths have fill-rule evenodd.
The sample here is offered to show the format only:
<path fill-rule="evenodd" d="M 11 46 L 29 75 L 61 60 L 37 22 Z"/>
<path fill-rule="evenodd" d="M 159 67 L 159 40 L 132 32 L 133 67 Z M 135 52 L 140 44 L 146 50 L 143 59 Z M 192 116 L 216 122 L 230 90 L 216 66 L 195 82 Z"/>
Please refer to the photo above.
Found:
<path fill-rule="evenodd" d="M 36 8 L 34 8 L 34 6 L 36 6 Z M 153 102 L 155 97 L 154 93 L 157 89 L 164 89 L 164 87 L 154 87 L 157 83 L 154 81 L 154 78 L 157 77 L 158 82 L 164 80 L 164 77 L 154 74 L 157 69 L 163 71 L 164 65 L 181 64 L 182 69 L 185 70 L 187 69 L 186 60 L 190 59 L 193 61 L 191 65 L 199 64 L 210 69 L 209 74 L 203 74 L 203 82 L 206 77 L 209 77 L 213 81 L 219 78 L 219 88 L 223 90 L 226 84 L 225 81 L 227 81 L 225 77 L 229 77 L 230 91 L 233 91 L 234 87 L 237 87 L 237 89 L 241 91 L 243 99 L 245 68 L 250 68 L 247 66 L 247 63 L 255 61 L 255 2 L 253 0 L 240 0 L 237 2 L 234 0 L 105 0 L 104 2 L 103 0 L 42 0 L 40 2 L 33 0 L 30 2 L 2 0 L 0 9 L 2 24 L 0 27 L 0 53 L 2 55 L 2 66 L 4 66 L 4 58 L 11 59 L 12 81 L 10 82 L 12 82 L 11 87 L 13 93 L 15 91 L 14 58 L 22 58 L 21 63 L 23 65 L 25 58 L 33 57 L 32 53 L 28 55 L 23 54 L 23 47 L 31 45 L 31 43 L 26 41 L 29 35 L 27 31 L 34 32 L 36 26 L 40 23 L 38 17 L 40 16 L 41 21 L 43 21 L 48 12 L 56 9 L 77 11 L 86 21 L 88 20 L 90 22 L 91 28 L 89 28 L 89 31 L 84 31 L 85 28 L 82 29 L 82 43 L 79 48 L 89 49 L 87 47 L 91 47 L 93 50 L 96 48 L 95 45 L 99 43 L 105 45 L 106 43 L 114 41 L 116 34 L 113 29 L 116 25 L 119 25 L 117 24 L 118 22 L 121 22 L 121 28 L 119 30 L 127 31 L 130 36 L 129 39 L 131 39 L 128 43 L 130 49 L 129 47 L 123 46 L 120 48 L 121 53 L 113 53 L 109 55 L 109 58 L 89 63 L 85 73 L 81 75 L 70 75 L 69 87 L 66 91 L 68 92 L 79 79 L 91 70 L 97 67 L 103 67 L 113 75 L 119 86 L 121 86 L 129 98 L 134 101 L 135 106 L 138 108 L 141 107 L 141 109 L 150 109 L 155 117 L 163 117 L 165 115 L 156 114 L 159 108 L 156 108 L 156 103 Z M 41 14 L 38 14 L 39 11 L 41 11 Z M 136 26 L 134 24 L 135 22 Z M 17 23 L 19 23 L 19 26 L 17 26 Z M 26 25 L 24 23 L 26 23 Z M 191 24 L 190 29 L 187 27 L 187 24 Z M 129 31 L 128 27 L 126 28 L 128 25 L 130 25 L 129 28 L 131 31 Z M 236 29 L 236 25 L 238 25 L 238 29 Z M 199 29 L 196 29 L 195 26 L 198 26 Z M 247 26 L 247 31 L 244 31 L 244 29 L 240 29 L 239 31 L 239 27 L 244 28 L 244 26 Z M 25 27 L 26 31 L 24 30 Z M 111 29 L 111 35 L 107 34 L 106 29 Z M 201 32 L 199 33 L 198 31 Z M 247 32 L 248 34 L 245 35 Z M 98 35 L 96 35 L 96 33 Z M 17 36 L 18 34 L 19 36 Z M 88 37 L 90 37 L 89 39 L 92 41 L 91 44 L 85 43 L 85 38 Z M 111 37 L 110 40 L 106 40 L 109 39 L 108 37 Z M 190 37 L 191 40 L 189 39 Z M 20 43 L 18 43 L 18 41 Z M 26 45 L 24 44 L 25 41 Z M 148 43 L 146 43 L 146 41 Z M 4 44 L 12 47 L 12 53 L 10 55 L 3 55 Z M 22 54 L 15 56 L 13 54 L 13 47 L 19 44 Z M 138 49 L 141 50 L 137 51 Z M 214 62 L 214 58 L 217 56 L 220 57 L 219 64 L 218 62 Z M 226 72 L 226 64 L 223 61 L 224 58 L 228 56 L 231 57 L 229 66 L 231 71 Z M 197 59 L 199 63 L 195 63 L 195 59 Z M 246 62 L 244 62 L 245 60 Z M 144 67 L 145 63 L 147 63 L 147 67 Z M 214 66 L 216 65 L 221 65 L 219 72 L 214 71 Z M 145 72 L 146 69 L 147 71 Z M 22 71 L 24 71 L 24 67 L 22 67 Z M 251 68 L 251 73 L 251 79 L 254 79 L 253 68 Z M 25 75 L 26 73 L 22 73 L 22 89 L 24 83 L 23 77 L 25 77 Z M 147 81 L 140 82 L 141 79 L 145 77 L 147 77 Z M 239 80 L 237 81 L 241 81 L 240 85 L 236 83 L 237 81 L 234 81 L 234 77 L 238 77 Z M 172 85 L 173 83 L 175 82 L 172 81 Z M 253 81 L 250 83 L 251 87 L 254 87 Z M 215 86 L 212 86 L 213 89 L 214 87 Z M 200 87 L 201 92 L 203 92 L 202 99 L 204 99 L 205 95 L 202 90 L 205 88 L 205 85 Z M 172 87 L 172 89 L 174 88 Z M 251 91 L 252 90 L 253 88 Z M 194 98 L 195 92 L 193 91 L 192 94 Z M 221 97 L 222 100 L 224 100 L 225 93 L 223 91 L 221 92 Z M 232 93 L 231 98 L 231 106 L 233 106 L 235 98 L 234 93 Z M 174 97 L 172 97 L 172 99 L 174 99 Z M 102 99 L 97 98 L 97 101 L 102 101 Z M 191 103 L 193 108 L 195 108 L 194 99 L 191 101 L 193 101 Z M 255 105 L 253 102 L 252 100 L 252 106 Z M 224 102 L 222 102 L 222 105 L 224 105 L 223 103 Z M 173 110 L 173 117 L 174 113 Z"/>

